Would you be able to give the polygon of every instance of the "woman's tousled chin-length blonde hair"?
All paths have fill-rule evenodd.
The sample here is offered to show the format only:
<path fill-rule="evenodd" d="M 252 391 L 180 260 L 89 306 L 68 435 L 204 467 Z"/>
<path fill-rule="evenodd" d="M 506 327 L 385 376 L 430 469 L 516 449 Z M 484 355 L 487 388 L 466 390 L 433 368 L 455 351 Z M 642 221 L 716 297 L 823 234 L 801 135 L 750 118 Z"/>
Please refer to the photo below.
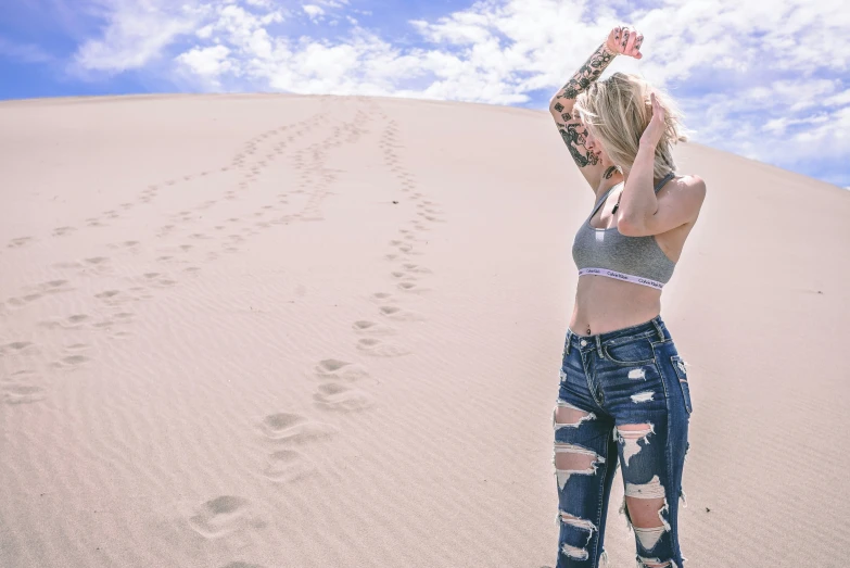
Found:
<path fill-rule="evenodd" d="M 614 165 L 621 172 L 631 171 L 640 135 L 652 118 L 650 92 L 656 93 L 664 110 L 664 131 L 656 147 L 652 167 L 652 176 L 660 178 L 676 168 L 673 144 L 688 140 L 687 129 L 682 123 L 684 114 L 664 90 L 650 86 L 638 75 L 618 72 L 607 79 L 592 83 L 576 97 L 572 109 Z"/>

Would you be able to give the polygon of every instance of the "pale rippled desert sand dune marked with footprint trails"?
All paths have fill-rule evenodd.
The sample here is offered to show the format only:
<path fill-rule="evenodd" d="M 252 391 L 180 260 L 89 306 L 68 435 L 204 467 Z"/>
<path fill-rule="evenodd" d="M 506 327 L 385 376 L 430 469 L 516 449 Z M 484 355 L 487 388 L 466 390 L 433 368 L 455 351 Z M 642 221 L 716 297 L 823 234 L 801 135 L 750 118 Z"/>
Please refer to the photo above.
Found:
<path fill-rule="evenodd" d="M 708 187 L 661 311 L 686 567 L 845 567 L 850 192 L 676 159 Z M 0 566 L 554 566 L 593 201 L 545 111 L 0 103 Z"/>

